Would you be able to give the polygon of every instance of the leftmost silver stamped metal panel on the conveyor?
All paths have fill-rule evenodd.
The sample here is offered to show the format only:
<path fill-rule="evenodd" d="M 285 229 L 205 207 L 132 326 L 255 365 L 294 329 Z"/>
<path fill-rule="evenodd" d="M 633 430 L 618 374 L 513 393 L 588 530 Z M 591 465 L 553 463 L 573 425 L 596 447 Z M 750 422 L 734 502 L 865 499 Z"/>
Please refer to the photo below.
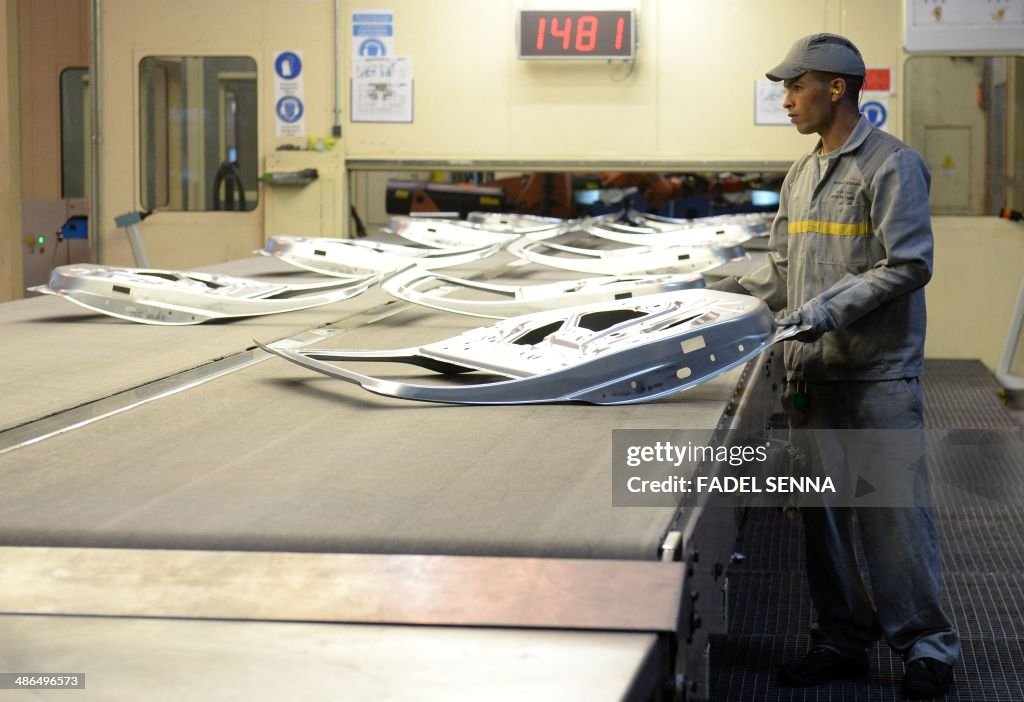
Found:
<path fill-rule="evenodd" d="M 47 284 L 29 290 L 129 321 L 182 325 L 327 305 L 362 293 L 377 279 L 289 286 L 218 273 L 78 263 L 57 266 Z"/>

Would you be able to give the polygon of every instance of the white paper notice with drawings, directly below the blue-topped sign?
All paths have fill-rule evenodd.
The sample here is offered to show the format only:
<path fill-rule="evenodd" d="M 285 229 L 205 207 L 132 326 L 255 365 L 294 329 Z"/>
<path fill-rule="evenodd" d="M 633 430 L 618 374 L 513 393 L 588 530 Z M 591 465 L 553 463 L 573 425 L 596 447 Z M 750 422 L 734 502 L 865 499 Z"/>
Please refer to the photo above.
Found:
<path fill-rule="evenodd" d="M 352 122 L 413 121 L 413 58 L 389 56 L 352 61 Z"/>

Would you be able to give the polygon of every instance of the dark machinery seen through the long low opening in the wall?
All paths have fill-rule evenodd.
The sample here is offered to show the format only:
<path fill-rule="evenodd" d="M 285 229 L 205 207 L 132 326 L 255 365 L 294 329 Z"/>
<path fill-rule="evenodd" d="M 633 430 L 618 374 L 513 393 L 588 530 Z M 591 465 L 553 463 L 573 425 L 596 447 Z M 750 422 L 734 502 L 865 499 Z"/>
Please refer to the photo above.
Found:
<path fill-rule="evenodd" d="M 389 180 L 389 215 L 511 212 L 572 219 L 635 209 L 670 217 L 761 212 L 778 205 L 781 174 L 455 173 L 450 182 Z"/>

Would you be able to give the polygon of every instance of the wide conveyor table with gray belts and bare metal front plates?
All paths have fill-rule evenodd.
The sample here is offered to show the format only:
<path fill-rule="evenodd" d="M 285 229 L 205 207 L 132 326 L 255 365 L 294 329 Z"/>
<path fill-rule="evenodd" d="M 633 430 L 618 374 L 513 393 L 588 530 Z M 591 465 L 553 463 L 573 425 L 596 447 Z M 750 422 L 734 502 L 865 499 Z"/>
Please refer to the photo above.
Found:
<path fill-rule="evenodd" d="M 566 277 L 504 261 L 454 273 Z M 684 587 L 712 580 L 735 522 L 731 511 L 705 519 L 699 509 L 612 507 L 612 431 L 687 429 L 710 439 L 737 400 L 741 369 L 642 405 L 469 407 L 372 395 L 252 350 L 254 338 L 400 348 L 483 323 L 379 290 L 317 310 L 173 328 L 52 299 L 0 306 L 0 328 L 11 332 L 0 351 L 15 360 L 17 393 L 0 414 L 8 576 L 0 580 L 0 670 L 41 669 L 40 661 L 83 670 L 91 676 L 76 697 L 104 701 L 346 699 L 338 690 L 350 699 L 648 699 L 678 659 L 670 642 L 699 622 Z M 34 359 L 52 366 L 40 383 Z M 208 372 L 222 363 L 225 372 Z M 191 374 L 202 382 L 134 401 Z M 92 414 L 111 404 L 123 406 Z M 44 431 L 69 419 L 59 433 Z M 659 562 L 670 530 L 678 530 L 670 557 L 700 547 L 696 577 Z M 366 555 L 373 566 L 357 577 L 379 583 L 375 594 L 413 588 L 403 600 L 413 610 L 339 597 L 353 591 L 351 573 L 280 567 L 285 558 L 339 555 Z M 180 565 L 193 557 L 217 565 Z M 498 558 L 484 559 L 494 563 L 482 577 L 453 585 L 477 557 Z M 145 568 L 135 567 L 139 559 Z M 224 566 L 229 560 L 248 569 Z M 449 579 L 431 584 L 424 563 Z M 605 567 L 620 570 L 597 574 Z M 562 568 L 582 575 L 553 575 Z M 631 579 L 640 576 L 640 584 Z M 290 614 L 315 598 L 275 601 L 291 590 L 274 577 L 332 608 L 315 618 Z M 651 604 L 652 578 L 671 606 Z M 212 618 L 198 619 L 194 602 Z M 451 607 L 419 618 L 438 605 Z M 507 616 L 488 618 L 502 607 Z M 659 623 L 636 619 L 646 610 Z M 224 621 L 237 617 L 245 621 Z M 687 665 L 700 659 L 708 628 L 697 629 Z M 171 679 L 182 669 L 206 684 Z M 252 684 L 240 686 L 239 675 Z"/>

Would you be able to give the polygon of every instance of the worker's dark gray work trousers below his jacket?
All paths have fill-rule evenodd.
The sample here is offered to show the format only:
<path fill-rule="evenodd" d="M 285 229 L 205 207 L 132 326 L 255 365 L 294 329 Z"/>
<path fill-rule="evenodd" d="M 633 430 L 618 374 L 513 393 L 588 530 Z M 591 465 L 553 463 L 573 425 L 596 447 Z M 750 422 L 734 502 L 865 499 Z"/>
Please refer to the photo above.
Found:
<path fill-rule="evenodd" d="M 797 392 L 804 395 L 794 408 Z M 790 413 L 795 446 L 808 441 L 816 445 L 808 454 L 821 465 L 813 472 L 843 474 L 854 449 L 850 430 L 920 430 L 892 432 L 893 441 L 906 437 L 922 442 L 913 483 L 915 494 L 905 495 L 897 507 L 857 507 L 842 495 L 822 507 L 803 508 L 807 577 L 817 619 L 811 625 L 816 646 L 851 657 L 862 656 L 880 635 L 909 662 L 935 658 L 952 664 L 959 657 L 959 637 L 942 611 L 938 538 L 932 518 L 927 468 L 924 460 L 924 400 L 918 379 L 879 382 L 790 383 L 783 404 Z M 809 430 L 809 431 L 801 431 Z M 843 440 L 836 440 L 841 436 Z M 888 436 L 877 432 L 874 437 Z M 831 437 L 833 440 L 829 440 Z M 884 438 L 872 438 L 856 451 L 866 453 L 872 468 L 883 473 L 906 470 L 888 466 L 905 451 L 895 443 L 887 448 Z M 878 473 L 877 473 L 878 474 Z M 922 499 L 922 488 L 924 499 Z M 900 489 L 900 488 L 895 488 Z M 894 497 L 893 495 L 887 495 Z M 899 495 L 895 496 L 899 497 Z M 870 585 L 868 597 L 854 555 L 859 536 Z"/>

